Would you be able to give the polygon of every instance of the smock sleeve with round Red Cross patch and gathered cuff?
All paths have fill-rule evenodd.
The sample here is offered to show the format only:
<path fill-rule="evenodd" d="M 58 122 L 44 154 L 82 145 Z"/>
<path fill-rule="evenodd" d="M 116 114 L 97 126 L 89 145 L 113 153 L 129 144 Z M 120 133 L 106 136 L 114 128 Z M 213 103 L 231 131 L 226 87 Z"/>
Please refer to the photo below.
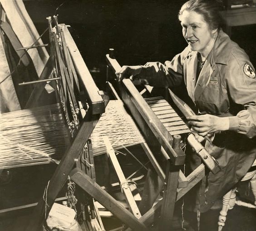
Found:
<path fill-rule="evenodd" d="M 237 57 L 239 55 L 233 55 L 230 60 L 225 78 L 231 99 L 241 105 L 242 110 L 229 118 L 229 129 L 253 138 L 256 136 L 255 69 L 248 59 L 241 60 Z"/>

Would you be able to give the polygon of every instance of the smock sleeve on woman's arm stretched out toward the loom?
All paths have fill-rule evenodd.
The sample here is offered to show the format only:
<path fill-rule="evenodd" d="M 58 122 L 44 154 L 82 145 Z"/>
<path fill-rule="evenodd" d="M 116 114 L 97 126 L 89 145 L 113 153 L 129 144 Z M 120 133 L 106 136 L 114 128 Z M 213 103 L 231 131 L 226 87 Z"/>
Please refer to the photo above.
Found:
<path fill-rule="evenodd" d="M 140 78 L 147 79 L 153 87 L 177 87 L 183 81 L 183 59 L 186 49 L 177 54 L 172 61 L 164 64 L 149 62 L 142 66 Z"/>

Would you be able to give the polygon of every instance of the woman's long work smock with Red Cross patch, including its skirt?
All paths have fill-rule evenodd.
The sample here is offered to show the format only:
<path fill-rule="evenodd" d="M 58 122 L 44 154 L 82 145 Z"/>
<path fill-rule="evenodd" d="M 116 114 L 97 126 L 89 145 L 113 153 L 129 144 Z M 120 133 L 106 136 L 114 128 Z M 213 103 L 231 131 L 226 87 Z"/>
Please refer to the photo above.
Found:
<path fill-rule="evenodd" d="M 209 172 L 200 189 L 194 191 L 195 197 L 189 192 L 185 201 L 188 209 L 207 211 L 234 187 L 256 158 L 256 78 L 249 57 L 222 30 L 197 81 L 196 72 L 197 52 L 187 47 L 165 64 L 145 64 L 140 77 L 158 87 L 184 83 L 198 112 L 229 118 L 229 131 L 216 134 L 212 143 L 205 144 L 221 171 L 215 175 Z M 190 171 L 200 163 L 193 153 L 187 155 Z"/>

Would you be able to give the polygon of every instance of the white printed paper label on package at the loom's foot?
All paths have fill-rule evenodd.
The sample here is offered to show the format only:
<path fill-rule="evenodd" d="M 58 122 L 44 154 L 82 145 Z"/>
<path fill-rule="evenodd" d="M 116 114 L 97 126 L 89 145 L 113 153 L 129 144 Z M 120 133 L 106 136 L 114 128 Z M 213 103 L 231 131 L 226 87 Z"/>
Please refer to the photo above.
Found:
<path fill-rule="evenodd" d="M 58 219 L 71 223 L 74 220 L 75 211 L 67 206 L 54 203 L 51 211 L 49 212 L 49 216 L 54 216 Z"/>

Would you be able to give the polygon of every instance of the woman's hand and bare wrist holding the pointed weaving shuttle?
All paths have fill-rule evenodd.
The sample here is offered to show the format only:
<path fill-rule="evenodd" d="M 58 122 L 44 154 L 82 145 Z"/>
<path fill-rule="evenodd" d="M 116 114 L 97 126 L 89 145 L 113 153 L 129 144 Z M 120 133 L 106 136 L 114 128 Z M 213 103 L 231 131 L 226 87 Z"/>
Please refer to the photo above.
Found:
<path fill-rule="evenodd" d="M 200 136 L 207 136 L 207 134 L 225 131 L 229 128 L 228 117 L 217 117 L 214 115 L 193 115 L 187 118 L 188 124 Z"/>

